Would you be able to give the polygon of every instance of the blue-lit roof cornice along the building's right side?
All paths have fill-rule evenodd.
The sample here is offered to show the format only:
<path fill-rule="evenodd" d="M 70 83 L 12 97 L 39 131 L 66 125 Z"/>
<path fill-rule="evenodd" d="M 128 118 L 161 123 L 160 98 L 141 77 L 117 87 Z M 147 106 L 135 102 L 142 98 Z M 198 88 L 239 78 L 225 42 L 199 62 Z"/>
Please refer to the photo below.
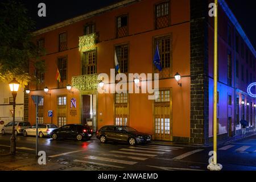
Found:
<path fill-rule="evenodd" d="M 242 27 L 238 23 L 238 20 L 236 19 L 236 16 L 234 16 L 232 11 L 229 9 L 228 4 L 225 2 L 225 0 L 218 0 L 218 3 L 222 7 L 222 9 L 225 11 L 225 13 L 228 16 L 228 18 L 230 19 L 230 21 L 234 24 L 237 31 L 239 32 L 239 34 L 241 35 L 242 39 L 245 41 L 247 46 L 250 48 L 253 55 L 256 57 L 256 51 L 255 51 L 253 45 L 251 44 L 250 40 L 247 38 L 245 32 L 243 31 Z"/>

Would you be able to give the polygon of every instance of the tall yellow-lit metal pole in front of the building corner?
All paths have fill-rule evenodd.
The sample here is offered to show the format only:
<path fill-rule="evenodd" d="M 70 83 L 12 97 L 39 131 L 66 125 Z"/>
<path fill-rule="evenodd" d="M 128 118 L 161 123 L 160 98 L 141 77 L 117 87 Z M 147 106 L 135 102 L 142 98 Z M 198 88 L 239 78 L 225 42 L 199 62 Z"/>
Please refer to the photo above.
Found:
<path fill-rule="evenodd" d="M 216 15 L 214 16 L 213 164 L 217 165 L 218 0 L 214 1 L 216 4 Z"/>

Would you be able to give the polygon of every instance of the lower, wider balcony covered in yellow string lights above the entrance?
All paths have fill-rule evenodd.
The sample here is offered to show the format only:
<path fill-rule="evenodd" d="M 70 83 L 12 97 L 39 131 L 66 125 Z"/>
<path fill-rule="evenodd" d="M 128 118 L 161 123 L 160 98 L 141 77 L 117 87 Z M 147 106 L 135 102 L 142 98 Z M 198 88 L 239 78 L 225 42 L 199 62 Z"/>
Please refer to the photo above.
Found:
<path fill-rule="evenodd" d="M 72 86 L 79 91 L 97 90 L 98 82 L 98 74 L 72 77 Z"/>

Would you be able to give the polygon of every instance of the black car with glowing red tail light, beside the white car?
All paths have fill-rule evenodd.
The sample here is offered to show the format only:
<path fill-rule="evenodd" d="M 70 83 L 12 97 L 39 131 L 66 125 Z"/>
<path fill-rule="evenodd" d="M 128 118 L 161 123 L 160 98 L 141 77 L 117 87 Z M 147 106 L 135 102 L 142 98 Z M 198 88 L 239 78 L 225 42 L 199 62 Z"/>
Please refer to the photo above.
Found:
<path fill-rule="evenodd" d="M 70 124 L 53 130 L 51 133 L 51 138 L 53 140 L 67 138 L 81 141 L 83 139 L 90 139 L 92 134 L 93 130 L 88 125 Z"/>

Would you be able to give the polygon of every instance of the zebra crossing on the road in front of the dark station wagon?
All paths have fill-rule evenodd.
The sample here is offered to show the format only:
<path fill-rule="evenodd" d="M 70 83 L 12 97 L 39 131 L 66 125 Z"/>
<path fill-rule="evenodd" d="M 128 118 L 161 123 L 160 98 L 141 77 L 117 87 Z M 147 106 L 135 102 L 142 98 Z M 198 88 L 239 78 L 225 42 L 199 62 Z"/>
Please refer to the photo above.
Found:
<path fill-rule="evenodd" d="M 181 150 L 184 147 L 143 145 L 121 147 L 118 150 L 99 152 L 86 155 L 82 160 L 75 159 L 73 162 L 96 164 L 98 166 L 125 168 L 139 162 L 154 158 L 158 155 L 167 154 L 173 150 Z"/>

